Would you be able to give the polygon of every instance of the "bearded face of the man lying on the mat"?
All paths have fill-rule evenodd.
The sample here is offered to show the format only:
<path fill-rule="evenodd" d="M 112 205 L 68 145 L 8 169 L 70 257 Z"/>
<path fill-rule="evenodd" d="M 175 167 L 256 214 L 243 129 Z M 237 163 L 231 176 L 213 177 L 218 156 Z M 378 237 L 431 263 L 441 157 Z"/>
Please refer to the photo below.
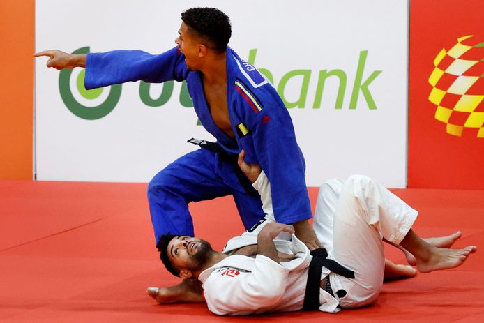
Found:
<path fill-rule="evenodd" d="M 180 270 L 199 271 L 211 253 L 210 243 L 191 236 L 175 236 L 167 247 L 169 261 Z"/>

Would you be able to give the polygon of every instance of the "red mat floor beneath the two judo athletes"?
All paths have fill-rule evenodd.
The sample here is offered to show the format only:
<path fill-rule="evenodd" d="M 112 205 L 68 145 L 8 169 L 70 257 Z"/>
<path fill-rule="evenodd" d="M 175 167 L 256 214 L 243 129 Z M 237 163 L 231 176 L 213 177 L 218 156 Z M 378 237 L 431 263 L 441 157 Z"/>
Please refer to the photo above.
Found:
<path fill-rule="evenodd" d="M 0 321 L 4 322 L 484 322 L 484 191 L 395 190 L 420 211 L 423 236 L 462 230 L 481 248 L 457 269 L 384 284 L 358 310 L 218 317 L 203 304 L 157 305 L 146 287 L 169 285 L 158 260 L 146 184 L 0 181 Z M 310 188 L 314 206 L 317 189 Z M 222 248 L 242 229 L 232 198 L 190 206 L 197 236 Z M 388 257 L 403 262 L 399 251 Z"/>

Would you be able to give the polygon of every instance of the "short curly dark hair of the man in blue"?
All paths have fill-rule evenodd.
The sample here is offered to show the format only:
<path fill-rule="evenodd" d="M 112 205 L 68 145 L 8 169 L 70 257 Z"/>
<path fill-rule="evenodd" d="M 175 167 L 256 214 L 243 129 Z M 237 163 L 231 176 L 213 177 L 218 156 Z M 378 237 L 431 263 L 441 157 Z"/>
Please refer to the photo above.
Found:
<path fill-rule="evenodd" d="M 206 38 L 207 47 L 215 52 L 225 52 L 232 27 L 225 13 L 217 8 L 190 8 L 181 13 L 181 20 L 190 31 L 202 38 Z"/>

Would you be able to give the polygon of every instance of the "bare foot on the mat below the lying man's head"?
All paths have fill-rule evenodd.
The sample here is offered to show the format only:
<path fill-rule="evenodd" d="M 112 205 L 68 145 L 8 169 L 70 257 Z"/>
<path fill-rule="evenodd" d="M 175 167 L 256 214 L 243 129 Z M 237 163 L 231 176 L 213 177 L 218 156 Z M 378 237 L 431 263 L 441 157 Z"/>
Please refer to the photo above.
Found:
<path fill-rule="evenodd" d="M 202 303 L 202 283 L 197 279 L 184 279 L 169 287 L 148 287 L 146 294 L 158 303 Z"/>

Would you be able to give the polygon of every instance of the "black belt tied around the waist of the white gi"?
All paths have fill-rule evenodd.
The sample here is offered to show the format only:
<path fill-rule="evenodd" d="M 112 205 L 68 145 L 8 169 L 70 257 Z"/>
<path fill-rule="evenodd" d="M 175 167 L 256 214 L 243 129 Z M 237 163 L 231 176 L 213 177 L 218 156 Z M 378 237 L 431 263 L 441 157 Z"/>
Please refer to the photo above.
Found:
<path fill-rule="evenodd" d="M 319 248 L 311 251 L 312 260 L 308 269 L 308 282 L 306 283 L 306 291 L 304 293 L 303 310 L 317 310 L 319 308 L 319 288 L 321 285 L 321 269 L 325 266 L 333 273 L 346 278 L 354 278 L 354 271 L 351 271 L 344 266 L 338 264 L 332 259 L 328 259 L 328 252 L 324 248 Z M 326 277 L 326 292 L 333 295 L 331 285 L 329 283 L 329 276 Z M 338 290 L 336 292 L 338 297 L 346 295 L 345 290 Z M 334 296 L 334 295 L 333 295 Z"/>

